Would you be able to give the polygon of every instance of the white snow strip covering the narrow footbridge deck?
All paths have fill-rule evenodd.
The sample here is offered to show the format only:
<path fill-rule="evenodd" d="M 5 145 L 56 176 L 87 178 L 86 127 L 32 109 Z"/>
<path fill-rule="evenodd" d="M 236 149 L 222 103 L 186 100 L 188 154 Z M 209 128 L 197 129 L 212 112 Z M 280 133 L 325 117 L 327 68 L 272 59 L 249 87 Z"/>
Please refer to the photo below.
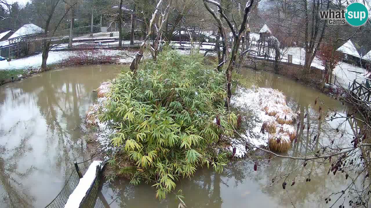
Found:
<path fill-rule="evenodd" d="M 86 192 L 91 187 L 95 179 L 96 167 L 101 165 L 102 161 L 95 160 L 90 164 L 85 175 L 80 178 L 79 184 L 73 190 L 72 194 L 68 197 L 65 208 L 79 208 L 82 199 L 85 197 Z"/>

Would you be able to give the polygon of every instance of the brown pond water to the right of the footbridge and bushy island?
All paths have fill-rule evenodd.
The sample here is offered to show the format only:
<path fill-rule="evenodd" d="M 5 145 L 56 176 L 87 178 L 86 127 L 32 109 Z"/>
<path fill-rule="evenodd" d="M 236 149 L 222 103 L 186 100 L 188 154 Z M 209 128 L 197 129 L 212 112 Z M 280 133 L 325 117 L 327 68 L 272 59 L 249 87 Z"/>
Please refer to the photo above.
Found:
<path fill-rule="evenodd" d="M 328 113 L 326 106 L 342 115 L 345 115 L 350 107 L 286 77 L 264 71 L 257 73 L 242 71 L 242 74 L 253 77 L 259 87 L 271 87 L 282 91 L 287 97 L 289 107 L 295 111 L 303 112 L 299 118 L 302 124 L 296 129 L 299 137 L 296 144 L 292 145 L 289 155 L 314 155 L 320 147 L 328 145 L 332 140 L 335 145 L 344 147 L 344 145 L 349 145 L 351 141 L 349 138 L 354 135 L 357 128 L 359 129 L 359 124 L 341 119 L 313 123 L 309 129 L 308 125 L 303 128 L 303 122 L 318 122 L 320 101 L 318 100 L 316 105 L 314 103 L 317 96 L 324 102 L 321 120 L 331 118 L 331 111 Z M 336 128 L 339 131 L 336 131 Z M 314 140 L 315 136 L 316 140 Z M 260 155 L 260 152 L 257 154 Z M 263 155 L 265 159 L 269 157 L 269 155 Z M 293 207 L 292 204 L 295 207 L 326 207 L 328 204 L 325 204 L 324 198 L 332 192 L 345 189 L 351 182 L 350 180 L 346 181 L 345 175 L 341 173 L 335 176 L 327 175 L 329 165 L 318 167 L 315 162 L 308 162 L 308 165 L 303 168 L 302 161 L 273 158 L 269 163 L 259 162 L 258 171 L 253 171 L 252 161 L 233 161 L 221 174 L 201 169 L 190 180 L 184 179 L 178 182 L 177 188 L 183 190 L 184 201 L 189 208 L 283 208 Z M 273 177 L 278 176 L 276 178 L 278 180 L 288 173 L 290 173 L 286 179 L 288 192 L 282 189 L 283 180 L 272 184 Z M 296 183 L 291 187 L 294 178 Z M 306 182 L 306 178 L 311 178 L 311 181 Z M 336 198 L 334 198 L 335 200 Z M 340 201 L 342 202 L 343 199 Z M 129 181 L 124 179 L 116 180 L 113 183 L 106 182 L 102 185 L 98 202 L 106 208 L 178 207 L 178 201 L 174 195 L 168 195 L 166 199 L 159 201 L 155 198 L 155 189 L 150 185 L 142 184 L 133 187 Z M 339 204 L 335 204 L 334 207 L 338 206 Z"/>

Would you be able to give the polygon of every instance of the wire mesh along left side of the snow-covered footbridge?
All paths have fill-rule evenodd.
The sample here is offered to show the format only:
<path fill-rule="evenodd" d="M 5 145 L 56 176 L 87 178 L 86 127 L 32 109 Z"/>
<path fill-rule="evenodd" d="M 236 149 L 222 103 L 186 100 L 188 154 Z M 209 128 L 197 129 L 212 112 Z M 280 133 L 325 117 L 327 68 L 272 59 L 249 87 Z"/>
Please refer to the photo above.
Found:
<path fill-rule="evenodd" d="M 72 194 L 73 190 L 79 184 L 79 176 L 77 175 L 76 171 L 72 171 L 71 175 L 68 177 L 68 180 L 59 194 L 53 199 L 50 204 L 48 204 L 45 208 L 63 208 L 68 200 L 70 194 Z"/>

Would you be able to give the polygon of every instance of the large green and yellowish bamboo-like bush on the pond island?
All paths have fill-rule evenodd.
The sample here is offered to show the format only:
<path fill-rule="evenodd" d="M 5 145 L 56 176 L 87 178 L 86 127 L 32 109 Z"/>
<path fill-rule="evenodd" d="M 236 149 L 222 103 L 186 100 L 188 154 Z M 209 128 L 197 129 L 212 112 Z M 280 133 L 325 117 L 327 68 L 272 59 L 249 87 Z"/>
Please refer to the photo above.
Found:
<path fill-rule="evenodd" d="M 154 183 L 158 198 L 197 167 L 221 172 L 227 162 L 218 142 L 233 132 L 213 123 L 219 118 L 223 128 L 236 127 L 236 115 L 223 108 L 225 76 L 195 60 L 165 50 L 157 63 L 142 63 L 136 74 L 119 74 L 99 116 L 116 129 L 112 143 L 121 157 L 137 166 L 121 167 L 118 173 L 132 184 Z"/>

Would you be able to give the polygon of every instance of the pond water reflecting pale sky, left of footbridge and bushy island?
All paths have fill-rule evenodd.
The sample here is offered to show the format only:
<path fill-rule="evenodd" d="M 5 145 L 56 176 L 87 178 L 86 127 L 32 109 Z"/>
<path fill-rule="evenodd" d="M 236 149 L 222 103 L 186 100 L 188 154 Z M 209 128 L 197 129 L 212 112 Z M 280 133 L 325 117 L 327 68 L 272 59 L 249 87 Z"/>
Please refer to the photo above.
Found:
<path fill-rule="evenodd" d="M 118 67 L 47 71 L 0 91 L 0 195 L 5 207 L 43 207 L 75 158 L 88 159 L 83 120 L 99 83 Z"/>

